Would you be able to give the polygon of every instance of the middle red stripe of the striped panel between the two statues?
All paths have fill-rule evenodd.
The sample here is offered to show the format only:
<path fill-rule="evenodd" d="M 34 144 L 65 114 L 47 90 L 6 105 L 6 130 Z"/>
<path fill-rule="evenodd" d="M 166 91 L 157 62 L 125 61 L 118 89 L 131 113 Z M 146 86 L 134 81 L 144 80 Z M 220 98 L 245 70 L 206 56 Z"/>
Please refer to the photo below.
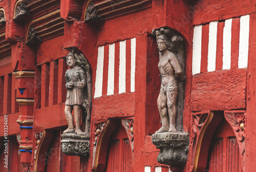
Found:
<path fill-rule="evenodd" d="M 119 42 L 115 43 L 115 78 L 114 78 L 114 94 L 119 92 L 119 61 L 120 50 Z"/>

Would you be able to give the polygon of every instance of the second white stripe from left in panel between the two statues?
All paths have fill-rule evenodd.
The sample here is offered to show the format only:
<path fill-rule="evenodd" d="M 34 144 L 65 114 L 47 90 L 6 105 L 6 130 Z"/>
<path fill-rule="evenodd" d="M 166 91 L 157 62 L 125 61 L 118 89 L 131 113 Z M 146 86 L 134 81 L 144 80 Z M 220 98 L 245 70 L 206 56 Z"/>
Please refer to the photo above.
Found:
<path fill-rule="evenodd" d="M 106 95 L 114 94 L 114 74 L 115 74 L 115 44 L 109 45 L 109 71 L 108 71 L 108 91 Z"/>

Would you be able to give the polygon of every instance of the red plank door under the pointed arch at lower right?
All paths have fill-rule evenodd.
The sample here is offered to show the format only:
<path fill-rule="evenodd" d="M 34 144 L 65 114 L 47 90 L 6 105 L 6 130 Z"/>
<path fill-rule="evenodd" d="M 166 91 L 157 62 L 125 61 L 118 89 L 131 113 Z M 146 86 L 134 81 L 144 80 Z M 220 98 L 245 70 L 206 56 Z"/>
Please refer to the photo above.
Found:
<path fill-rule="evenodd" d="M 238 142 L 225 119 L 222 120 L 212 137 L 206 171 L 242 172 Z"/>

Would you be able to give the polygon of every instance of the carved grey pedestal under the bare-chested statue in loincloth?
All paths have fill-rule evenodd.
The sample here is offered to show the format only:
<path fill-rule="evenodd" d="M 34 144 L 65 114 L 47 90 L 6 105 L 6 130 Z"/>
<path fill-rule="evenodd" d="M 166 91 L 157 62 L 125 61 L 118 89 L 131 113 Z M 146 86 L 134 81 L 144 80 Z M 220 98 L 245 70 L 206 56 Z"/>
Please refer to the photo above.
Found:
<path fill-rule="evenodd" d="M 157 161 L 161 164 L 182 167 L 186 164 L 189 136 L 187 133 L 157 133 L 152 142 L 160 149 Z"/>

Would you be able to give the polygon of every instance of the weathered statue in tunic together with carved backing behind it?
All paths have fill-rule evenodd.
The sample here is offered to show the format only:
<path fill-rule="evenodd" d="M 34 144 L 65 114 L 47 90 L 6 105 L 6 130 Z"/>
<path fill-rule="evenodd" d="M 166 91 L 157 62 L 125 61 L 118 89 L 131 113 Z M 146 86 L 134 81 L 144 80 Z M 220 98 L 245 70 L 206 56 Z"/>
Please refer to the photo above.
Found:
<path fill-rule="evenodd" d="M 75 133 L 77 135 L 89 135 L 89 133 L 87 133 L 87 129 L 86 132 L 81 131 L 80 119 L 81 114 L 83 119 L 82 121 L 84 121 L 87 115 L 87 120 L 90 119 L 90 114 L 88 114 L 88 112 L 90 113 L 91 88 L 90 86 L 87 86 L 88 82 L 91 84 L 91 78 L 90 75 L 88 75 L 90 66 L 87 59 L 82 54 L 78 55 L 75 51 L 72 51 L 68 54 L 67 64 L 70 67 L 70 69 L 68 69 L 65 73 L 67 89 L 65 115 L 68 122 L 68 129 L 63 131 L 63 134 Z M 73 126 L 73 110 L 76 125 L 75 129 Z M 88 122 L 85 123 L 88 125 Z M 89 126 L 86 126 L 86 128 L 88 127 Z"/>

